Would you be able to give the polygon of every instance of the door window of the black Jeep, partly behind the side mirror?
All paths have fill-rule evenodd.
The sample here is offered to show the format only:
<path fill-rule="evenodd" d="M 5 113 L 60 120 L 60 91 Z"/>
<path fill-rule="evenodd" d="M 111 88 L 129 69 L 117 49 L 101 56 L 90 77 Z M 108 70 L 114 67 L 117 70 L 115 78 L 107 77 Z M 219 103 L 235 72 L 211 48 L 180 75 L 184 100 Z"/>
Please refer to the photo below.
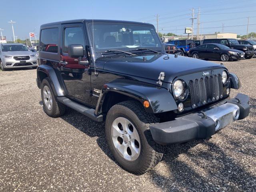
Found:
<path fill-rule="evenodd" d="M 79 44 L 85 48 L 84 34 L 81 27 L 69 27 L 64 30 L 64 53 L 68 53 L 68 45 Z"/>

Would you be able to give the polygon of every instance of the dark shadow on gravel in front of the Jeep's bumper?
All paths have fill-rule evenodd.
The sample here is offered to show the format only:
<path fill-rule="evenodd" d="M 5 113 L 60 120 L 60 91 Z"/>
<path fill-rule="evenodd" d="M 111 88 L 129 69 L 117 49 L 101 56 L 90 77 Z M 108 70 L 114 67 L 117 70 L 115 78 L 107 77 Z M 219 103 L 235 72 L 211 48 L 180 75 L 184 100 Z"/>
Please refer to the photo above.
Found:
<path fill-rule="evenodd" d="M 208 149 L 190 153 L 189 149 L 199 142 Z M 176 159 L 178 154 L 181 153 L 185 156 L 182 159 L 185 160 Z M 226 155 L 221 148 L 210 142 L 210 140 L 168 146 L 162 161 L 168 167 L 170 175 L 163 176 L 156 172 L 155 169 L 149 173 L 152 182 L 163 190 L 256 190 L 256 176 L 244 170 L 240 164 L 234 162 L 230 156 Z M 206 166 L 201 166 L 202 164 Z"/>

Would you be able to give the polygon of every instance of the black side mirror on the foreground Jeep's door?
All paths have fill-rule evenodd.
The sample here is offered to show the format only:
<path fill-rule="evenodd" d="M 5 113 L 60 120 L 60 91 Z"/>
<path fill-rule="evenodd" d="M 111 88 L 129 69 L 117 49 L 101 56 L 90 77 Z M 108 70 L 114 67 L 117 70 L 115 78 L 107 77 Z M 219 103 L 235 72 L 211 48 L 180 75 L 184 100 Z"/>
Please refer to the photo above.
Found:
<path fill-rule="evenodd" d="M 82 58 L 86 56 L 84 53 L 84 47 L 78 44 L 68 45 L 68 56 L 71 58 L 78 58 L 78 64 L 88 66 L 88 60 L 82 61 Z"/>

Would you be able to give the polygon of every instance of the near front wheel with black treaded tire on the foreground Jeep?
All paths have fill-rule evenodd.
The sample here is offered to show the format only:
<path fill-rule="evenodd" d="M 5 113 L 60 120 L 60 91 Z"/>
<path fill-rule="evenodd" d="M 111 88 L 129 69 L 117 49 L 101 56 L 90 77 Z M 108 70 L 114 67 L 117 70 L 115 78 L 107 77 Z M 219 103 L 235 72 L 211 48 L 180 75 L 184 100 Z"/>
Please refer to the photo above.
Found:
<path fill-rule="evenodd" d="M 143 174 L 162 159 L 164 146 L 154 142 L 149 125 L 158 123 L 154 114 L 146 113 L 142 104 L 120 102 L 108 111 L 106 139 L 114 158 L 124 169 Z"/>

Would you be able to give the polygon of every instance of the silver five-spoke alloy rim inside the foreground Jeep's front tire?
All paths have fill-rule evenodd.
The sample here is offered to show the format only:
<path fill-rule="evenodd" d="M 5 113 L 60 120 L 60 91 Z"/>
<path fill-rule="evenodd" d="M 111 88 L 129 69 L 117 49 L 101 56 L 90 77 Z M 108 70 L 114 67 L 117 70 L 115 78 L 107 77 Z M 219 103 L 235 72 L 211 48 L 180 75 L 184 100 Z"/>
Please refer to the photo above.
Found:
<path fill-rule="evenodd" d="M 140 137 L 135 126 L 124 117 L 116 118 L 111 126 L 112 142 L 117 152 L 128 161 L 140 155 Z"/>

